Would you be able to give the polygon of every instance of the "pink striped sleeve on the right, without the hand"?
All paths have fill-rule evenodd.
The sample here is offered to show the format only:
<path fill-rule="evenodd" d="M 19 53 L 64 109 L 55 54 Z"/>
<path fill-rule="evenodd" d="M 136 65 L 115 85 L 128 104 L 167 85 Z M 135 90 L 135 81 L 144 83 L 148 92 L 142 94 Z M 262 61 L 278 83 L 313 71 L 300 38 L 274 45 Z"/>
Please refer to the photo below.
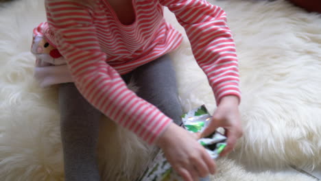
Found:
<path fill-rule="evenodd" d="M 206 0 L 159 0 L 185 28 L 195 60 L 206 74 L 217 104 L 226 95 L 241 98 L 235 43 L 222 8 Z"/>

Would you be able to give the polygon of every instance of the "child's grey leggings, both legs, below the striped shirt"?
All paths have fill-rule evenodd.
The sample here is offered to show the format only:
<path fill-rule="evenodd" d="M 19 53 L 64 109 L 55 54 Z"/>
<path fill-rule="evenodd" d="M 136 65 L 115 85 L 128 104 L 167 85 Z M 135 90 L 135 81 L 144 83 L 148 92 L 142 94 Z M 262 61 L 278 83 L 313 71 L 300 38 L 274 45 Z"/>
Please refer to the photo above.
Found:
<path fill-rule="evenodd" d="M 181 124 L 182 108 L 169 56 L 162 56 L 122 77 L 126 83 L 133 78 L 139 87 L 136 93 L 139 97 Z M 66 181 L 100 180 L 95 151 L 102 113 L 82 97 L 73 83 L 60 84 L 59 105 Z"/>

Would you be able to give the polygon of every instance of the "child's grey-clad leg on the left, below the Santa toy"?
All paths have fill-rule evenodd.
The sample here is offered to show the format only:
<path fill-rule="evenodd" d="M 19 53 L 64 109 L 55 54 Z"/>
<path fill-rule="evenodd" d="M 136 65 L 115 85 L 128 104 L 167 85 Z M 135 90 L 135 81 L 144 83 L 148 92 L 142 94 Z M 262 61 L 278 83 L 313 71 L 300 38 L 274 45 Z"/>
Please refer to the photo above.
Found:
<path fill-rule="evenodd" d="M 66 181 L 98 181 L 96 147 L 102 113 L 73 83 L 59 85 L 61 137 Z"/>

